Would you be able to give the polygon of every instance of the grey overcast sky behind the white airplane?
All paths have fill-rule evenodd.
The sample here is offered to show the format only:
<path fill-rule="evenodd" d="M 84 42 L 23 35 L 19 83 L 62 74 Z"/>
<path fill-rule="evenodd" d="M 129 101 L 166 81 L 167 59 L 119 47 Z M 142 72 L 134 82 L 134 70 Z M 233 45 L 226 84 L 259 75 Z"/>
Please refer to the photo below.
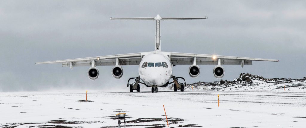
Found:
<path fill-rule="evenodd" d="M 64 89 L 109 90 L 126 87 L 138 66 L 123 66 L 117 80 L 112 66 L 99 66 L 91 81 L 89 67 L 35 62 L 154 50 L 155 21 L 110 21 L 109 17 L 204 17 L 161 21 L 162 51 L 278 59 L 253 65 L 225 65 L 222 79 L 240 73 L 266 78 L 306 77 L 305 1 L 0 1 L 0 91 Z M 174 75 L 187 83 L 220 80 L 214 65 L 202 65 L 194 79 L 189 65 Z"/>

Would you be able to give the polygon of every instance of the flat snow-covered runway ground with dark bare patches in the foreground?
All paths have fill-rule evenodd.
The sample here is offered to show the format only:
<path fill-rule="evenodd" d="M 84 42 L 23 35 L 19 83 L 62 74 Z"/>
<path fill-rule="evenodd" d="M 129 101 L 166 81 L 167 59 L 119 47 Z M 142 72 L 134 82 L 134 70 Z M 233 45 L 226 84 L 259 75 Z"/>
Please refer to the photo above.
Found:
<path fill-rule="evenodd" d="M 220 107 L 218 97 L 220 94 Z M 303 92 L 13 92 L 0 93 L 0 127 L 127 126 L 305 127 Z"/>

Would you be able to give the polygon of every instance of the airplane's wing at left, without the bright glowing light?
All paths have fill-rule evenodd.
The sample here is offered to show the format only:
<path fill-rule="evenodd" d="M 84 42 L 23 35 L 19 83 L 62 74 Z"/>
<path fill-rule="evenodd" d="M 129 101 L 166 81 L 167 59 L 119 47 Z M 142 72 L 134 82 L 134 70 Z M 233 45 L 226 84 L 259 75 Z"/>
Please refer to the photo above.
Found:
<path fill-rule="evenodd" d="M 72 67 L 75 66 L 91 66 L 92 61 L 94 60 L 95 66 L 114 66 L 116 65 L 117 58 L 119 60 L 119 65 L 139 65 L 141 61 L 141 53 L 56 60 L 56 61 L 47 61 L 47 62 L 37 62 L 35 64 L 62 63 L 63 67 L 70 67 L 72 69 Z"/>

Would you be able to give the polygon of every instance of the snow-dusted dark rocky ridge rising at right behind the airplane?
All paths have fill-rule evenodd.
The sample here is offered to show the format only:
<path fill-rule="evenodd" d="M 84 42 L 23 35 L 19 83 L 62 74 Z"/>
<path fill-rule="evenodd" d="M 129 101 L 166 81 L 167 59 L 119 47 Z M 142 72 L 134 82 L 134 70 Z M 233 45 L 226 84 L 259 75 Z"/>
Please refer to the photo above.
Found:
<path fill-rule="evenodd" d="M 241 75 L 233 81 L 215 81 L 213 83 L 198 82 L 187 85 L 186 90 L 207 91 L 273 91 L 273 92 L 305 92 L 306 78 L 285 79 L 285 78 L 263 78 L 258 75 L 249 73 L 241 73 Z M 171 88 L 169 88 L 172 90 Z"/>

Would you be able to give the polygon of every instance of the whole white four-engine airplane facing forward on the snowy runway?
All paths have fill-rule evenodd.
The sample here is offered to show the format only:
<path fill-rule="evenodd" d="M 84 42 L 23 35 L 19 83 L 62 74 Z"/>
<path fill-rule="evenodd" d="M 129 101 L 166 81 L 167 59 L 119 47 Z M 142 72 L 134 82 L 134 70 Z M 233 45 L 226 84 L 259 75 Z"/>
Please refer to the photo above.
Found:
<path fill-rule="evenodd" d="M 177 53 L 161 51 L 160 41 L 160 21 L 164 20 L 194 20 L 194 19 L 207 19 L 207 17 L 136 17 L 136 18 L 110 18 L 110 20 L 152 20 L 156 22 L 156 37 L 155 37 L 155 50 L 141 53 L 130 53 L 120 55 L 107 55 L 96 56 L 89 58 L 76 58 L 48 62 L 37 62 L 36 64 L 48 63 L 62 63 L 63 67 L 70 67 L 72 70 L 75 66 L 91 66 L 87 73 L 91 80 L 96 80 L 99 77 L 99 70 L 96 66 L 114 66 L 111 70 L 112 75 L 119 79 L 123 75 L 121 65 L 139 65 L 139 76 L 130 78 L 128 85 L 130 85 L 130 92 L 136 90 L 140 92 L 139 83 L 152 87 L 152 92 L 158 92 L 158 87 L 166 87 L 174 83 L 174 92 L 177 89 L 184 91 L 186 81 L 182 77 L 175 77 L 172 74 L 172 68 L 176 65 L 190 65 L 189 75 L 196 78 L 200 75 L 200 67 L 198 65 L 216 65 L 213 69 L 216 78 L 222 78 L 224 75 L 224 68 L 221 65 L 252 65 L 252 61 L 272 61 L 278 62 L 274 59 L 261 59 L 261 58 L 245 58 L 233 56 L 220 56 L 220 55 L 205 55 L 205 54 L 191 54 L 191 53 Z M 173 79 L 170 82 L 170 79 Z M 178 82 L 178 78 L 184 80 L 184 84 Z M 131 79 L 135 82 L 129 84 Z M 141 81 L 142 82 L 141 82 Z"/>

